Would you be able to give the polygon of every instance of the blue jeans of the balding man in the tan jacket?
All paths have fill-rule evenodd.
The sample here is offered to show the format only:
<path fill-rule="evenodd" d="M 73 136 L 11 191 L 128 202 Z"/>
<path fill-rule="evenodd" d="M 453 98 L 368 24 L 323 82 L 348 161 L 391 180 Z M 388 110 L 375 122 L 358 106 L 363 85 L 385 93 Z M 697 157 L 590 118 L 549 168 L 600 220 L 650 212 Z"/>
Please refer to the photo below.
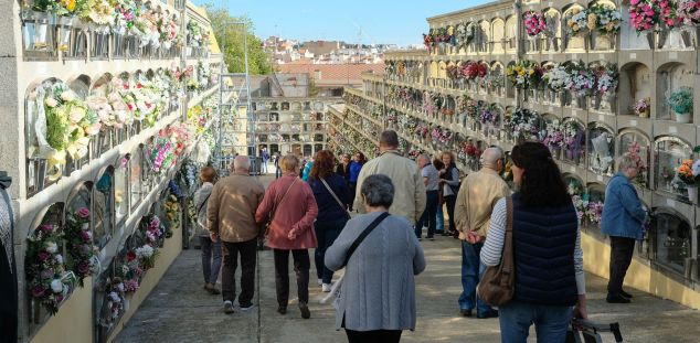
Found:
<path fill-rule="evenodd" d="M 476 294 L 476 286 L 479 283 L 486 266 L 481 264 L 479 254 L 484 243 L 470 244 L 462 240 L 462 294 L 459 296 L 459 309 L 471 310 L 476 308 L 477 315 L 486 314 L 491 307 Z"/>

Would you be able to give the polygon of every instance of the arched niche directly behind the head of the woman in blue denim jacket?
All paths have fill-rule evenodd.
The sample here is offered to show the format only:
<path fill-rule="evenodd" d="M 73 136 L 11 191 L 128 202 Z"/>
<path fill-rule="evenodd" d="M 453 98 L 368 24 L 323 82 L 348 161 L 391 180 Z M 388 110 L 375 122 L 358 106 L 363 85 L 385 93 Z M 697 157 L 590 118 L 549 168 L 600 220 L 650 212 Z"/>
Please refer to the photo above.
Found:
<path fill-rule="evenodd" d="M 637 129 L 623 129 L 617 133 L 617 157 L 629 154 L 637 160 L 637 178 L 632 182 L 636 185 L 649 187 L 649 163 L 651 158 L 651 140 Z M 619 169 L 617 170 L 619 171 Z"/>

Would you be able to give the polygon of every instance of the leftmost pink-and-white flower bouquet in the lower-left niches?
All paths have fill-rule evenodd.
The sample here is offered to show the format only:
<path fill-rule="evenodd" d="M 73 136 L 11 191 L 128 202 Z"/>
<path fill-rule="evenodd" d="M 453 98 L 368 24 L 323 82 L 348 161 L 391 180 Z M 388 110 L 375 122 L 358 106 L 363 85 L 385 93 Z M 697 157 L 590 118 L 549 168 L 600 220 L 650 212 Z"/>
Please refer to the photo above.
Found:
<path fill-rule="evenodd" d="M 53 224 L 42 224 L 28 237 L 24 268 L 32 300 L 40 302 L 51 315 L 73 290 L 74 275 L 66 271 L 62 245 L 63 234 Z"/>

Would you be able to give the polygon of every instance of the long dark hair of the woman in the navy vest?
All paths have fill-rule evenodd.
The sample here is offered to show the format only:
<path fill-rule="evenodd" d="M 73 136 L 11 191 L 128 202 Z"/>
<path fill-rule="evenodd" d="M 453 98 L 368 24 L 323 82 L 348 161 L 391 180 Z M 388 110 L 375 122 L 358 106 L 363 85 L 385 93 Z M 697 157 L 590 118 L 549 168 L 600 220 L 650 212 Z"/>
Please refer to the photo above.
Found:
<path fill-rule="evenodd" d="M 571 203 L 561 171 L 544 144 L 518 144 L 513 147 L 511 158 L 523 170 L 519 194 L 524 206 L 559 207 Z"/>

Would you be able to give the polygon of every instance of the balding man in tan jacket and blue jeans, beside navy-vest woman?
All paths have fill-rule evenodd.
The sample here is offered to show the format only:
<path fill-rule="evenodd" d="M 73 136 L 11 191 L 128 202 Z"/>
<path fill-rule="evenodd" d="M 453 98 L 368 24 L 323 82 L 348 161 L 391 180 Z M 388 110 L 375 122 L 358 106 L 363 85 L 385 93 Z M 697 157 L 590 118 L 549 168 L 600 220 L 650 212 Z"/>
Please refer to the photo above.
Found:
<path fill-rule="evenodd" d="M 471 317 L 476 308 L 479 319 L 498 317 L 498 311 L 491 309 L 477 294 L 479 283 L 486 266 L 479 258 L 479 253 L 487 237 L 491 212 L 496 202 L 510 194 L 508 184 L 499 172 L 503 168 L 503 152 L 500 148 L 488 148 L 481 153 L 482 168 L 467 175 L 459 192 L 455 206 L 455 224 L 462 240 L 462 294 L 459 313 Z"/>

